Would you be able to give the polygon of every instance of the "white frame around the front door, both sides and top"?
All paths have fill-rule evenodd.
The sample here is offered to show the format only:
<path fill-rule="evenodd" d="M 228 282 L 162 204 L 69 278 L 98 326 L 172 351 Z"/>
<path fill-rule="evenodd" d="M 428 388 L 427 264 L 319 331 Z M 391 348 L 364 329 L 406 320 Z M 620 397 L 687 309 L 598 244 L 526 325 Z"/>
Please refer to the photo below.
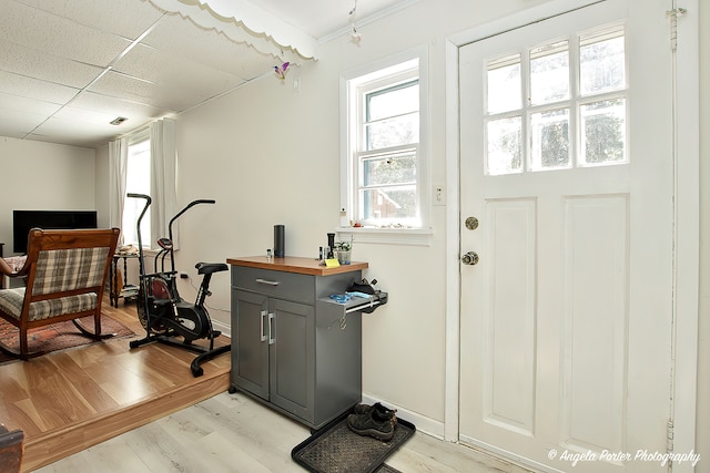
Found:
<path fill-rule="evenodd" d="M 460 317 L 460 204 L 459 204 L 459 47 L 604 0 L 552 0 L 471 30 L 446 41 L 446 387 L 444 436 L 459 435 L 459 317 Z M 639 0 L 642 1 L 642 0 Z M 669 0 L 674 3 L 677 0 Z M 696 398 L 698 368 L 699 228 L 700 228 L 700 128 L 699 128 L 699 0 L 682 1 L 687 14 L 678 19 L 682 39 L 677 55 L 676 96 L 676 255 L 673 337 L 674 452 L 696 448 Z M 669 28 L 670 30 L 670 28 Z M 681 340 L 681 342 L 676 342 Z M 680 387 L 680 389 L 678 389 Z M 669 401 L 670 403 L 670 401 Z M 692 472 L 691 463 L 673 467 Z"/>

